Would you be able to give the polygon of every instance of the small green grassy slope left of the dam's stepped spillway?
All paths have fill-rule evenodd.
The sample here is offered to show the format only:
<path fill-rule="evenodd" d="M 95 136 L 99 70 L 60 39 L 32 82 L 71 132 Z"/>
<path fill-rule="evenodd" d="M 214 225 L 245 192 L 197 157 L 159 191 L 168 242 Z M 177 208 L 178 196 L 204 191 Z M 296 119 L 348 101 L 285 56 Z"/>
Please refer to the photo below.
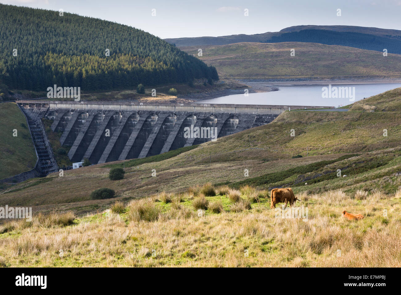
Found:
<path fill-rule="evenodd" d="M 14 103 L 0 104 L 0 179 L 29 171 L 36 153 L 24 114 Z M 13 136 L 13 130 L 17 136 Z"/>

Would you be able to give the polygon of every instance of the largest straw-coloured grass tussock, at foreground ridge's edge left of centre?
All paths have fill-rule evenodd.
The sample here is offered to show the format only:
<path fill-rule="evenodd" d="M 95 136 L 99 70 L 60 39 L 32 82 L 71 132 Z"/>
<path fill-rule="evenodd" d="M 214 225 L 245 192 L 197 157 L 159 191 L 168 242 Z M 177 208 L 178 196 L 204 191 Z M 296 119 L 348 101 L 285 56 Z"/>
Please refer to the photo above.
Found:
<path fill-rule="evenodd" d="M 156 221 L 161 210 L 150 200 L 132 201 L 128 206 L 128 218 L 132 221 Z"/>

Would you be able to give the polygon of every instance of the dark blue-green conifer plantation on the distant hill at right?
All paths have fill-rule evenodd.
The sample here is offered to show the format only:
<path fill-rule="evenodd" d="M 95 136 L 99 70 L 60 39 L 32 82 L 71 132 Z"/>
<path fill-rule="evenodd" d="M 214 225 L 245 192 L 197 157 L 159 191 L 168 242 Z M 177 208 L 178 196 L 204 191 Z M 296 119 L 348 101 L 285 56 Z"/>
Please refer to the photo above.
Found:
<path fill-rule="evenodd" d="M 389 37 L 379 37 L 371 34 L 354 32 L 336 32 L 329 30 L 307 29 L 299 32 L 283 33 L 271 37 L 266 43 L 280 42 L 310 42 L 326 45 L 341 45 L 360 49 L 401 54 L 401 40 Z"/>

